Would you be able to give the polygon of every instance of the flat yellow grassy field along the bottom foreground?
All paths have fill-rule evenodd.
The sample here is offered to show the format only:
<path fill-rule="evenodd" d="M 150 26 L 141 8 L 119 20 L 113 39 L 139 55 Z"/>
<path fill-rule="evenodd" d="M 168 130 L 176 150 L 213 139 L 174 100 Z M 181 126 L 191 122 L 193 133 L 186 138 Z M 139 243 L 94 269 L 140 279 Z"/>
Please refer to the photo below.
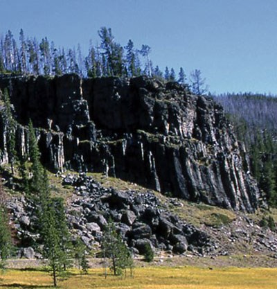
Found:
<path fill-rule="evenodd" d="M 51 277 L 38 270 L 8 270 L 0 277 L 0 288 L 43 289 L 51 287 Z M 276 289 L 277 269 L 274 268 L 136 268 L 134 277 L 105 279 L 102 269 L 91 269 L 88 275 L 72 270 L 60 288 L 134 288 L 134 289 Z"/>

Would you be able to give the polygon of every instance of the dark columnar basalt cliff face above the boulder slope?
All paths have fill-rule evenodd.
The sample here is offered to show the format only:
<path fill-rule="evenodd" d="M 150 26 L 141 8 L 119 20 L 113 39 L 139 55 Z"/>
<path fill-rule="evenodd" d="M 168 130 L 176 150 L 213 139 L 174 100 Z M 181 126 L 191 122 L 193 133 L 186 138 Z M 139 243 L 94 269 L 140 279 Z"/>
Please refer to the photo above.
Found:
<path fill-rule="evenodd" d="M 222 107 L 177 82 L 65 75 L 1 78 L 5 87 L 20 124 L 19 151 L 28 150 L 24 126 L 31 119 L 48 168 L 102 172 L 235 210 L 258 207 L 245 150 Z"/>

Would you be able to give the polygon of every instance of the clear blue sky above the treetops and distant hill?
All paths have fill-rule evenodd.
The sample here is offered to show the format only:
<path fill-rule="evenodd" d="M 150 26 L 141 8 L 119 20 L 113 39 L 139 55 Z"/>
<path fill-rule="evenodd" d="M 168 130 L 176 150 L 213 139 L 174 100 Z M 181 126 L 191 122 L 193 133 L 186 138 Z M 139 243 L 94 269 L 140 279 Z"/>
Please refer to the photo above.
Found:
<path fill-rule="evenodd" d="M 277 94 L 276 0 L 0 0 L 0 35 L 80 43 L 111 28 L 121 45 L 148 44 L 154 65 L 200 69 L 212 93 Z"/>

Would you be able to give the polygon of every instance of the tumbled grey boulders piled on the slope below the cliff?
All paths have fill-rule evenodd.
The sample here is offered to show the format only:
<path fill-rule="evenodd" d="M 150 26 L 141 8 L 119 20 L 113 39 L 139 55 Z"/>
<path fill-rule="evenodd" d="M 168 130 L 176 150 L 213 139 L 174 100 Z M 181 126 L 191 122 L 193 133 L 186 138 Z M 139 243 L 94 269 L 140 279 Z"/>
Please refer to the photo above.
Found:
<path fill-rule="evenodd" d="M 63 184 L 75 188 L 66 206 L 73 240 L 78 236 L 89 249 L 100 248 L 103 229 L 112 220 L 134 254 L 145 254 L 148 244 L 156 253 L 188 251 L 202 256 L 215 250 L 208 234 L 172 214 L 150 191 L 106 189 L 84 173 L 64 176 Z M 17 231 L 19 256 L 39 257 L 35 204 L 22 196 L 14 197 L 8 209 Z"/>

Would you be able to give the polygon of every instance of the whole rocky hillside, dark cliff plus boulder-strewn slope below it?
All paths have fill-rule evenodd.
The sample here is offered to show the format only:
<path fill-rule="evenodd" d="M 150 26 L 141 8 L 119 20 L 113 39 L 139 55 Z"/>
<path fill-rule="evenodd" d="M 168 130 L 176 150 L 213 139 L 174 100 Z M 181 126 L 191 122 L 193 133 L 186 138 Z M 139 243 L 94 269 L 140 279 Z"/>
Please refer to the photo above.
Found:
<path fill-rule="evenodd" d="M 30 167 L 29 119 L 52 195 L 89 249 L 99 249 L 112 220 L 134 254 L 150 244 L 169 256 L 274 256 L 276 233 L 247 153 L 211 98 L 144 76 L 15 76 L 0 78 L 0 89 L 1 167 L 19 256 L 39 256 L 36 204 L 19 177 L 19 162 Z"/>

